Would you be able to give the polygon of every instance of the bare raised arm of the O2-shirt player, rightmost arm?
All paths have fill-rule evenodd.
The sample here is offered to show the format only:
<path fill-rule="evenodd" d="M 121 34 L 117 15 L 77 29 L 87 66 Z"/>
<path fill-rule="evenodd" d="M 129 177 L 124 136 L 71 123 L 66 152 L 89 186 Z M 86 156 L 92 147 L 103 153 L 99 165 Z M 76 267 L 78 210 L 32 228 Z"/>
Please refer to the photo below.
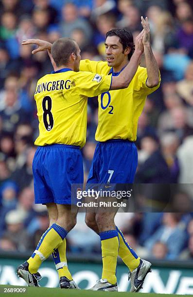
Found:
<path fill-rule="evenodd" d="M 146 84 L 148 87 L 153 88 L 157 86 L 159 83 L 159 68 L 150 45 L 150 26 L 149 26 L 148 18 L 146 17 L 144 19 L 141 16 L 141 24 L 144 30 L 142 43 L 144 46 L 144 55 L 145 55 L 147 77 L 148 77 Z"/>

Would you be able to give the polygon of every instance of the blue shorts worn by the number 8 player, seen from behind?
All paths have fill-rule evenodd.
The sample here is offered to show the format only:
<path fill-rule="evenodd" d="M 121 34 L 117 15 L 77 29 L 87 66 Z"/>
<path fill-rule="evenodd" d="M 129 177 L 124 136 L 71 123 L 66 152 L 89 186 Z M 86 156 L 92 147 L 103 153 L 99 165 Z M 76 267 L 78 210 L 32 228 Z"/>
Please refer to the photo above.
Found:
<path fill-rule="evenodd" d="M 84 181 L 82 154 L 76 146 L 38 147 L 32 168 L 35 203 L 71 204 L 71 183 Z"/>

